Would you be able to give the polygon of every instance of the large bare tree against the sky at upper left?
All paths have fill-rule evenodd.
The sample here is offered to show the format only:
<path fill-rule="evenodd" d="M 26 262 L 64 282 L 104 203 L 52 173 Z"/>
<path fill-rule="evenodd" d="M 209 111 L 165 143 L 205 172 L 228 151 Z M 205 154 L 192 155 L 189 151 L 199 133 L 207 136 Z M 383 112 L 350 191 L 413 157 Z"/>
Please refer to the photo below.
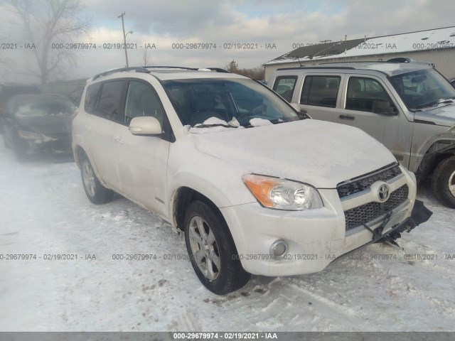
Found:
<path fill-rule="evenodd" d="M 90 20 L 82 16 L 80 0 L 8 1 L 20 19 L 26 39 L 35 45 L 31 50 L 36 67 L 26 67 L 24 73 L 38 77 L 42 84 L 65 75 L 65 70 L 74 67 L 79 58 L 78 45 L 66 44 L 90 31 Z M 63 43 L 63 48 L 55 48 L 55 43 Z"/>

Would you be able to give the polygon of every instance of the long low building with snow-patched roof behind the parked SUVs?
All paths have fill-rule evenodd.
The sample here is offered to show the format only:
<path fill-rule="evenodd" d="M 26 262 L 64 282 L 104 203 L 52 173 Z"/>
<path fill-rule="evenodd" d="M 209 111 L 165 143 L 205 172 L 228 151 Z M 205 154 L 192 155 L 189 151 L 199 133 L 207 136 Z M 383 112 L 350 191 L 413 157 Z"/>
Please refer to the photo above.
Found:
<path fill-rule="evenodd" d="M 265 80 L 282 67 L 398 57 L 433 63 L 446 78 L 455 77 L 455 26 L 303 46 L 265 63 Z"/>

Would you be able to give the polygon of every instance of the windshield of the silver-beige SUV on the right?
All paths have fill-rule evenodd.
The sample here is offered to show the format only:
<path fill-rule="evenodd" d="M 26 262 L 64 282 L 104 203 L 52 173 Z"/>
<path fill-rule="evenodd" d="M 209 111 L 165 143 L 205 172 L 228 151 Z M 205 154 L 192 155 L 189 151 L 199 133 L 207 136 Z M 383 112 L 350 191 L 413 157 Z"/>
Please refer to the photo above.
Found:
<path fill-rule="evenodd" d="M 434 69 L 393 76 L 390 82 L 410 110 L 436 107 L 455 98 L 455 89 Z"/>

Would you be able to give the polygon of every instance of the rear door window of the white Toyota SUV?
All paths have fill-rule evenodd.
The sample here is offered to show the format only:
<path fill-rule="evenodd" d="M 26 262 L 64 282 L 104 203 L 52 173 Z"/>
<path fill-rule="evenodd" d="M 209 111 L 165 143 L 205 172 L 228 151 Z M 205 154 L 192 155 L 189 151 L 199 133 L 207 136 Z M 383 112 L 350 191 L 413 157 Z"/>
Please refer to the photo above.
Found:
<path fill-rule="evenodd" d="M 123 114 L 123 90 L 125 81 L 114 80 L 102 83 L 96 113 L 107 119 L 119 121 Z"/>

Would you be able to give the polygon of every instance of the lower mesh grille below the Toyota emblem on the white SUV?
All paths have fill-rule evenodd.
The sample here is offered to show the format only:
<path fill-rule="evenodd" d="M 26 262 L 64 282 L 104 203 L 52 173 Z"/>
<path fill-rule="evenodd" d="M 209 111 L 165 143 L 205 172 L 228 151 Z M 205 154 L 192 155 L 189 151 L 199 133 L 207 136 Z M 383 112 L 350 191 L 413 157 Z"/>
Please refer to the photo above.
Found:
<path fill-rule="evenodd" d="M 393 210 L 407 200 L 408 194 L 409 188 L 407 185 L 402 185 L 395 192 L 390 193 L 390 197 L 386 202 L 368 202 L 368 204 L 345 211 L 346 231 L 370 222 Z"/>

